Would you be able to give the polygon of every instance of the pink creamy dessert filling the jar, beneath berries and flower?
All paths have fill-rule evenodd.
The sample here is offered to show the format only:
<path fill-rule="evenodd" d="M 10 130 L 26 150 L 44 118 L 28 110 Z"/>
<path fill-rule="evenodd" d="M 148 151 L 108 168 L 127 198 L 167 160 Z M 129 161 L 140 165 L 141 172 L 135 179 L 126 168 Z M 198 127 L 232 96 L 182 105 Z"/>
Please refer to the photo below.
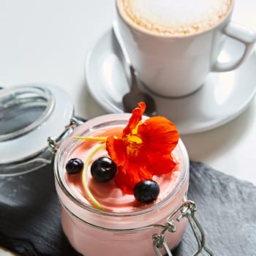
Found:
<path fill-rule="evenodd" d="M 86 195 L 82 174 L 69 175 L 65 165 L 74 157 L 86 159 L 99 146 L 97 140 L 77 140 L 74 136 L 108 137 L 120 134 L 130 114 L 110 114 L 93 118 L 80 125 L 66 138 L 56 154 L 54 169 L 56 191 L 61 202 L 61 224 L 70 244 L 85 256 L 156 255 L 152 236 L 160 234 L 170 215 L 184 203 L 189 186 L 189 157 L 181 140 L 171 152 L 176 167 L 170 173 L 153 176 L 160 192 L 152 203 L 140 203 L 134 195 L 116 187 L 114 180 L 98 182 L 91 177 L 90 167 L 99 157 L 108 156 L 103 147 L 93 155 L 86 171 L 86 183 L 91 195 L 102 206 L 95 207 Z M 146 117 L 143 117 L 143 120 Z M 173 249 L 181 240 L 187 219 L 173 217 L 175 232 L 167 232 L 165 241 Z M 160 249 L 162 253 L 162 249 Z"/>

